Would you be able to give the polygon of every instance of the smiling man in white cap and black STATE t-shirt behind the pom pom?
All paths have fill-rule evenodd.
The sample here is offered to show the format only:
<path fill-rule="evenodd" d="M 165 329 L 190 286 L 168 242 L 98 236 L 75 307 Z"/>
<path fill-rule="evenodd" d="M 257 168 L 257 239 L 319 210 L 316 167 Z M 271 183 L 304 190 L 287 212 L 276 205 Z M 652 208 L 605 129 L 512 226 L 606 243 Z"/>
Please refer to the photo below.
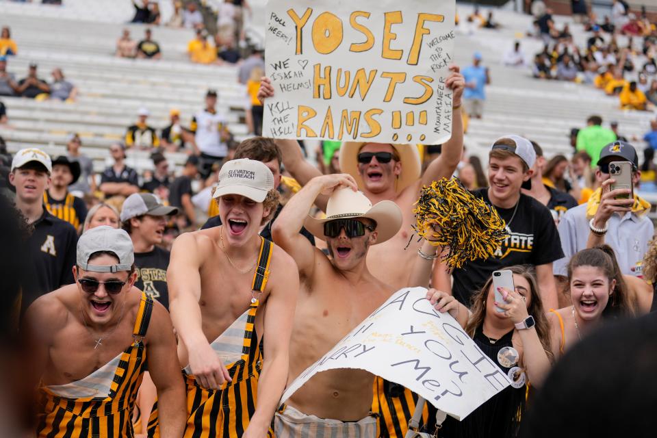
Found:
<path fill-rule="evenodd" d="M 466 306 L 495 270 L 513 265 L 536 267 L 545 309 L 556 309 L 556 285 L 552 262 L 563 257 L 552 214 L 545 205 L 521 193 L 531 188 L 536 153 L 532 144 L 519 136 L 495 140 L 489 153 L 489 188 L 474 194 L 491 204 L 506 222 L 508 237 L 492 257 L 466 263 L 453 272 L 452 294 Z"/>

